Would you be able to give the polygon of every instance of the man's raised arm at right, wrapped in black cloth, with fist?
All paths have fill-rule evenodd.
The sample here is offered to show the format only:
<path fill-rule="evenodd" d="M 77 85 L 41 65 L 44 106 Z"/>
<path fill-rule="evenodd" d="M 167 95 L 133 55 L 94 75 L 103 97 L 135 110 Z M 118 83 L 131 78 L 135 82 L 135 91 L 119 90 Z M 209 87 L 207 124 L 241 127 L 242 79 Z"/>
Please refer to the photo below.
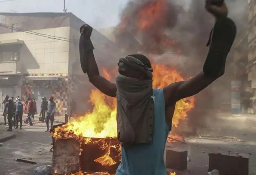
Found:
<path fill-rule="evenodd" d="M 236 37 L 236 25 L 231 19 L 226 18 L 225 3 L 217 7 L 209 2 L 206 0 L 206 9 L 216 17 L 216 23 L 210 34 L 208 42 L 210 47 L 203 70 L 189 80 L 172 83 L 165 87 L 166 106 L 199 93 L 225 72 L 226 58 Z"/>

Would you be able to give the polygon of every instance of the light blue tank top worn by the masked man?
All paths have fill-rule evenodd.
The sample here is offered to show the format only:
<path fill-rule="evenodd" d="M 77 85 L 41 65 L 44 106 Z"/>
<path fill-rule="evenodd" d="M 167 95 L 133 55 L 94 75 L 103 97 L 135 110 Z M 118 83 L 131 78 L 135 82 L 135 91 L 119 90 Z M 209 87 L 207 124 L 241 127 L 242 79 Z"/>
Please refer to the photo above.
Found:
<path fill-rule="evenodd" d="M 171 126 L 165 123 L 164 89 L 154 89 L 155 127 L 152 144 L 122 147 L 116 175 L 166 175 L 164 148 Z"/>

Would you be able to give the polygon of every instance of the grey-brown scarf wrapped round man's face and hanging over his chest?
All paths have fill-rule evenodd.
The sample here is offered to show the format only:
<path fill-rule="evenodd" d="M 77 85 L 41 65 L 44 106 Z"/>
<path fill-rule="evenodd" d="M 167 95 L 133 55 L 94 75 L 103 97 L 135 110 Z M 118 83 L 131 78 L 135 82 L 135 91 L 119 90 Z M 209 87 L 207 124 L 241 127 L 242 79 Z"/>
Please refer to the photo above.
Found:
<path fill-rule="evenodd" d="M 147 68 L 134 57 L 121 58 L 119 70 L 130 69 L 152 77 Z M 117 133 L 123 146 L 152 143 L 154 133 L 154 97 L 152 78 L 140 80 L 118 75 L 116 77 Z"/>

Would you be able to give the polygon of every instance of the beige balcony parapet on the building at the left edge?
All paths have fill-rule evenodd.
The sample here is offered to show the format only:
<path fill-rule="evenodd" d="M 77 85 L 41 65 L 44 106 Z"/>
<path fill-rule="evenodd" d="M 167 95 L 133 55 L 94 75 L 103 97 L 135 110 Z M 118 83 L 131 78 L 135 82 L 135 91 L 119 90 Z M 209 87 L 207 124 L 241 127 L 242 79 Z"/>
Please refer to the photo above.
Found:
<path fill-rule="evenodd" d="M 18 61 L 0 62 L 0 75 L 15 75 L 21 74 L 21 69 Z"/>

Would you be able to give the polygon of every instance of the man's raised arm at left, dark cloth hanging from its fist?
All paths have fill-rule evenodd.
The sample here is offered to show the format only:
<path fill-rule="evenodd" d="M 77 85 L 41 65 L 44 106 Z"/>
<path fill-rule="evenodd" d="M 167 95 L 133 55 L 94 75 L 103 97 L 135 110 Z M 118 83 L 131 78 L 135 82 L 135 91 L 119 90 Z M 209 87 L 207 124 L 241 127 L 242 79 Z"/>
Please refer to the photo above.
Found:
<path fill-rule="evenodd" d="M 81 27 L 79 50 L 80 50 L 80 62 L 84 73 L 87 73 L 89 81 L 98 88 L 102 93 L 115 97 L 116 95 L 116 84 L 111 83 L 104 77 L 100 76 L 98 65 L 95 61 L 93 54 L 93 45 L 90 39 L 90 26 L 84 25 Z"/>

